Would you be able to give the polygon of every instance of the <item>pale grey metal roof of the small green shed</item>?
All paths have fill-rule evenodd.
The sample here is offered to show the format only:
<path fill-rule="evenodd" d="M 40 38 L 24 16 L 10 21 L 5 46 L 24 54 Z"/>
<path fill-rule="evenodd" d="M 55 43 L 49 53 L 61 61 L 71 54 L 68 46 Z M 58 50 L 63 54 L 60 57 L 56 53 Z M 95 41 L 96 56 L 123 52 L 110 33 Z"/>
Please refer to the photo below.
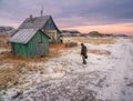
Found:
<path fill-rule="evenodd" d="M 9 39 L 9 41 L 10 42 L 16 42 L 16 43 L 28 43 L 31 40 L 31 38 L 37 33 L 37 31 L 41 31 L 41 30 L 20 29 L 13 37 L 11 37 Z M 50 39 L 50 37 L 48 37 L 48 38 Z"/>

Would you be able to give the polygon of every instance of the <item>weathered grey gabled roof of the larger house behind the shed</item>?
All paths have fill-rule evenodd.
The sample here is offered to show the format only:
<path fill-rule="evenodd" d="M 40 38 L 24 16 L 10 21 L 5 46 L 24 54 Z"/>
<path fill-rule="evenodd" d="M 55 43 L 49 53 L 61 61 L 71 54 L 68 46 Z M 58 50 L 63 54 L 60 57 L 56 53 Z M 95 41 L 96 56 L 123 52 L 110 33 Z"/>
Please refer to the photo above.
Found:
<path fill-rule="evenodd" d="M 51 16 L 27 18 L 18 29 L 42 29 L 49 20 L 53 22 Z M 60 32 L 57 26 L 55 29 Z"/>

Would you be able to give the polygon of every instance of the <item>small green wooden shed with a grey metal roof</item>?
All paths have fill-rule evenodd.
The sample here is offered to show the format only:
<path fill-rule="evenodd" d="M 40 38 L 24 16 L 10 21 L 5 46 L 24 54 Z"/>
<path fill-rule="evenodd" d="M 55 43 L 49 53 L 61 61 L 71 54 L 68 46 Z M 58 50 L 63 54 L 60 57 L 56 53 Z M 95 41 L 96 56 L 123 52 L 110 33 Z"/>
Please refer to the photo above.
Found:
<path fill-rule="evenodd" d="M 14 54 L 32 58 L 49 52 L 49 39 L 50 37 L 41 30 L 20 29 L 9 41 Z"/>

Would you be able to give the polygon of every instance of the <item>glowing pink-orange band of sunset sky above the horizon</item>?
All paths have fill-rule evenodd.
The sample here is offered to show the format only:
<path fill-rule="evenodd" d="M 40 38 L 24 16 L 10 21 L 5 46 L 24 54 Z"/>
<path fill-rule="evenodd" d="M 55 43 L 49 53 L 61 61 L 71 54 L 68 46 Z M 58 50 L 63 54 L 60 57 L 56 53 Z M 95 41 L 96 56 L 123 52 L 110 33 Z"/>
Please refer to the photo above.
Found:
<path fill-rule="evenodd" d="M 74 28 L 65 28 L 65 29 L 76 29 L 83 33 L 88 33 L 90 31 L 100 31 L 102 33 L 125 33 L 133 34 L 133 23 L 121 23 L 121 24 L 105 24 L 105 26 L 82 26 Z"/>

